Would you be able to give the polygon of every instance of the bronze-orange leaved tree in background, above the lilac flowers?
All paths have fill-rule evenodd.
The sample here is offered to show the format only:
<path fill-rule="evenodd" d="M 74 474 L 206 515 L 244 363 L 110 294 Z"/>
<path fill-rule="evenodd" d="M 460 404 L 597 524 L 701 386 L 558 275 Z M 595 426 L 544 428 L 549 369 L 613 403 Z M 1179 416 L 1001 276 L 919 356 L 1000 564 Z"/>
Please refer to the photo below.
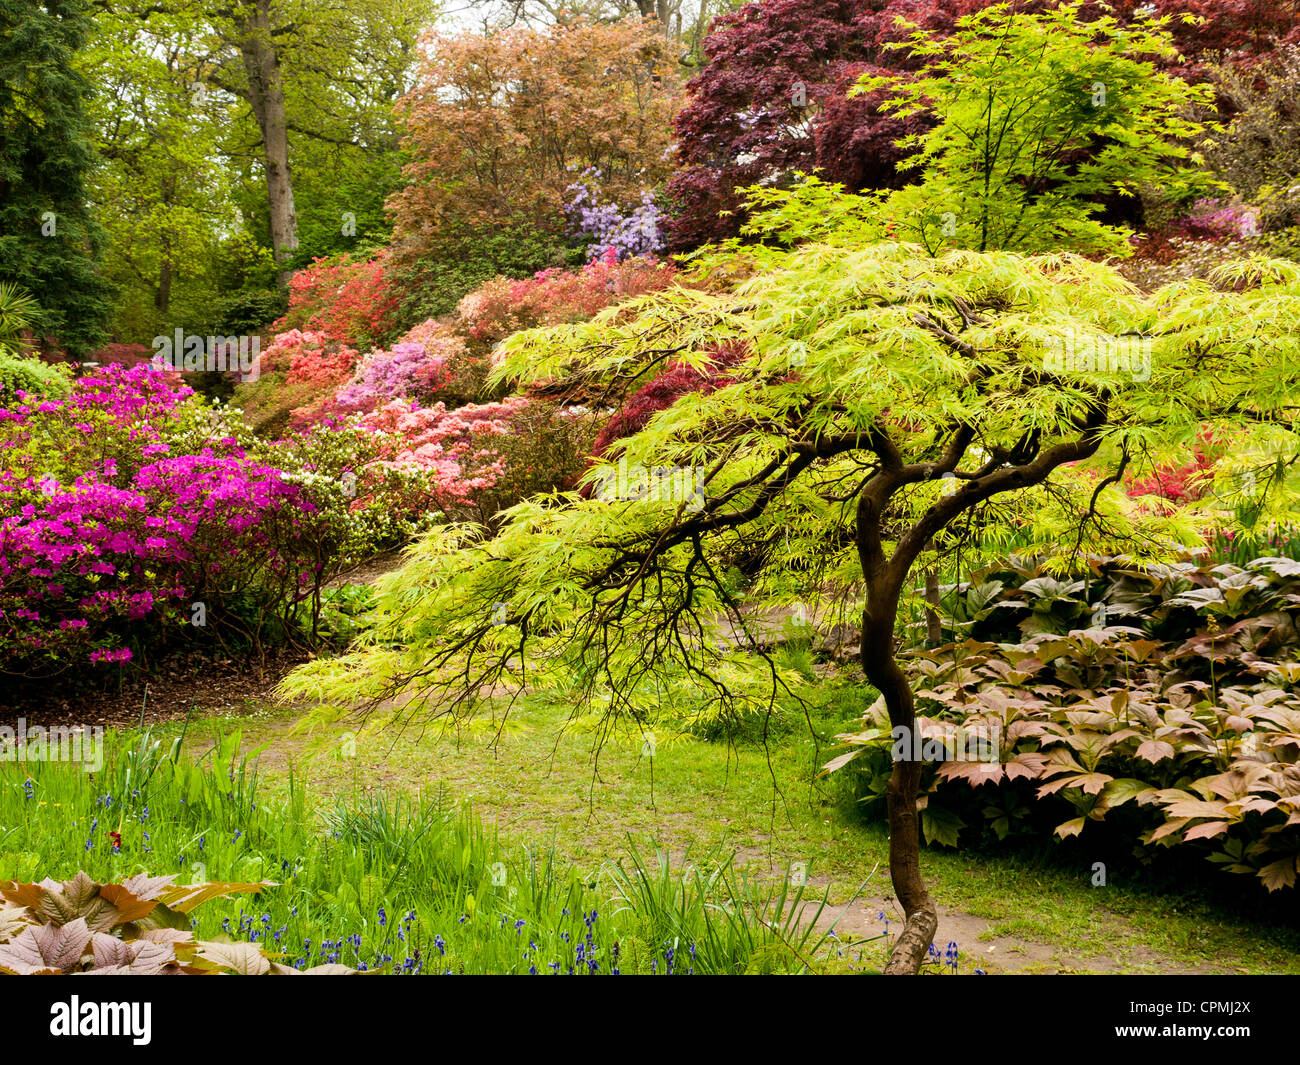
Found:
<path fill-rule="evenodd" d="M 402 101 L 408 185 L 390 203 L 404 260 L 515 226 L 563 243 L 566 190 L 588 168 L 615 199 L 667 177 L 675 72 L 651 23 L 434 34 L 425 47 Z"/>

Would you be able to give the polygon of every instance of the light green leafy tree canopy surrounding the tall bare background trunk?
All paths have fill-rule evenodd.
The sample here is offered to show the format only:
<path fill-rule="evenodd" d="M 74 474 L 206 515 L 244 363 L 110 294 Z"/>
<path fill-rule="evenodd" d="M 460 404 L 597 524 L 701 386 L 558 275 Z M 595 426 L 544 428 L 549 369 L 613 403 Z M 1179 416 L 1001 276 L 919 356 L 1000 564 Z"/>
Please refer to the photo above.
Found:
<path fill-rule="evenodd" d="M 415 39 L 436 5 L 259 9 L 273 23 L 263 36 L 278 101 L 248 82 L 239 42 L 252 8 L 95 7 L 79 61 L 101 88 L 94 125 L 104 164 L 92 183 L 121 291 L 112 322 L 121 339 L 148 343 L 176 325 L 250 332 L 283 309 L 266 290 L 277 270 L 263 248 L 282 280 L 317 256 L 389 239 L 384 202 L 402 165 L 393 104 L 410 87 Z M 282 166 L 268 163 L 259 109 L 283 126 Z"/>

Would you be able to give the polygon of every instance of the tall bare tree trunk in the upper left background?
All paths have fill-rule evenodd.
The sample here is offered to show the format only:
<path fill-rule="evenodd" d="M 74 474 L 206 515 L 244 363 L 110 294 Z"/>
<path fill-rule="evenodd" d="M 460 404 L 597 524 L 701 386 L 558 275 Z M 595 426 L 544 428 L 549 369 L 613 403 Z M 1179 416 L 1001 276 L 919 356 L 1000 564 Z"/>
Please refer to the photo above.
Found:
<path fill-rule="evenodd" d="M 283 263 L 298 250 L 298 212 L 294 209 L 294 182 L 289 173 L 289 125 L 285 116 L 285 87 L 280 75 L 280 56 L 270 35 L 270 0 L 257 0 L 235 22 L 239 55 L 248 77 L 248 103 L 261 130 L 266 166 L 266 205 L 270 212 L 270 246 L 276 261 Z M 289 283 L 289 270 L 281 270 L 280 283 Z"/>

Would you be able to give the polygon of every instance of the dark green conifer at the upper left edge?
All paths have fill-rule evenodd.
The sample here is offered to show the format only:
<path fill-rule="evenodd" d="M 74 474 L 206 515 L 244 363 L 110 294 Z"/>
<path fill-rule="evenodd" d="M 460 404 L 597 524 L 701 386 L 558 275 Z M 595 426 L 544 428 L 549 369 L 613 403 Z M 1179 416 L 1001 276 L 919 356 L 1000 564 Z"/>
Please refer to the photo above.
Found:
<path fill-rule="evenodd" d="M 100 339 L 112 298 L 86 189 L 91 86 L 75 69 L 90 29 L 81 0 L 0 3 L 0 281 L 38 299 L 34 328 L 73 355 Z"/>

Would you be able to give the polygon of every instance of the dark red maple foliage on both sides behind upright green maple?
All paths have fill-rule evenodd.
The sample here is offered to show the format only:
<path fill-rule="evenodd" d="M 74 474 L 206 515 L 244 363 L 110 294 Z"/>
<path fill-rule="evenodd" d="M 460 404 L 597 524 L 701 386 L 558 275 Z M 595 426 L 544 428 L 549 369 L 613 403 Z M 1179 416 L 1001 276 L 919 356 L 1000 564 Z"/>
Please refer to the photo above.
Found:
<path fill-rule="evenodd" d="M 915 179 L 896 142 L 928 129 L 927 113 L 905 118 L 881 111 L 879 94 L 850 98 L 849 90 L 864 74 L 906 77 L 926 64 L 924 56 L 890 47 L 909 33 L 898 20 L 942 38 L 961 16 L 987 7 L 988 0 L 762 0 L 719 17 L 705 40 L 707 62 L 686 85 L 676 120 L 681 169 L 670 182 L 671 246 L 734 235 L 746 217 L 737 189 L 788 185 L 796 172 L 818 170 L 850 191 Z M 1147 14 L 1170 17 L 1176 51 L 1160 65 L 1186 78 L 1201 77 L 1206 57 L 1248 65 L 1300 35 L 1295 0 L 1115 0 L 1080 12 L 1122 23 Z"/>

